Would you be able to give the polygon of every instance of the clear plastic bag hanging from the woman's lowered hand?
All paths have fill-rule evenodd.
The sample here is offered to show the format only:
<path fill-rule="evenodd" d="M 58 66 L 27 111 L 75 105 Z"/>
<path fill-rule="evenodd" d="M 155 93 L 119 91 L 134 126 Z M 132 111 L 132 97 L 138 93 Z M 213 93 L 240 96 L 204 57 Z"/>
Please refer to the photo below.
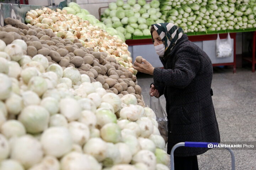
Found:
<path fill-rule="evenodd" d="M 150 97 L 150 108 L 156 114 L 156 121 L 158 122 L 158 130 L 164 138 L 165 143 L 168 139 L 168 119 L 164 109 L 161 106 L 160 100 L 153 102 L 153 97 Z M 154 97 L 155 98 L 155 97 Z"/>

